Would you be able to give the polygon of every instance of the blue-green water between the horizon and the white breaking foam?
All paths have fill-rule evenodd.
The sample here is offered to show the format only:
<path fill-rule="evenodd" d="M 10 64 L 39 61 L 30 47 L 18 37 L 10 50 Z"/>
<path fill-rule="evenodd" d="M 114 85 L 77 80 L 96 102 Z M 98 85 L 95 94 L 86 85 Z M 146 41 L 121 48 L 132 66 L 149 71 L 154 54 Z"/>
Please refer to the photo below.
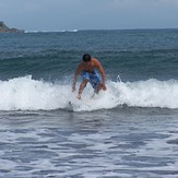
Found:
<path fill-rule="evenodd" d="M 117 74 L 124 81 L 178 75 L 177 29 L 0 34 L 0 75 L 4 80 L 28 74 L 61 80 L 73 74 L 84 52 L 98 58 L 111 80 Z"/>

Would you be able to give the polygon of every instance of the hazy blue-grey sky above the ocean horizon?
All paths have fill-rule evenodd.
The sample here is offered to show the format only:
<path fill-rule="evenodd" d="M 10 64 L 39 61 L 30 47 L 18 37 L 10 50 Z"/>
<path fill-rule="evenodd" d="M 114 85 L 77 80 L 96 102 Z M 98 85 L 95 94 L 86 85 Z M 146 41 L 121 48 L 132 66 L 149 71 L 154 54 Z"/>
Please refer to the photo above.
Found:
<path fill-rule="evenodd" d="M 25 31 L 178 28 L 178 0 L 0 0 L 0 21 Z"/>

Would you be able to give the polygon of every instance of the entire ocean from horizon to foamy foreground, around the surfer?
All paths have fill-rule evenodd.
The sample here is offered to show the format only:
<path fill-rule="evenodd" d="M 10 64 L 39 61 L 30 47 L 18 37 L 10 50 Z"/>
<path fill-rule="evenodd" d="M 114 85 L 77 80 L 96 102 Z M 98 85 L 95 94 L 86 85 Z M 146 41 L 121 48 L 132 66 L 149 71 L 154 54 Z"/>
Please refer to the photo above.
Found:
<path fill-rule="evenodd" d="M 78 100 L 85 52 L 107 91 Z M 0 177 L 178 177 L 178 29 L 0 34 Z"/>

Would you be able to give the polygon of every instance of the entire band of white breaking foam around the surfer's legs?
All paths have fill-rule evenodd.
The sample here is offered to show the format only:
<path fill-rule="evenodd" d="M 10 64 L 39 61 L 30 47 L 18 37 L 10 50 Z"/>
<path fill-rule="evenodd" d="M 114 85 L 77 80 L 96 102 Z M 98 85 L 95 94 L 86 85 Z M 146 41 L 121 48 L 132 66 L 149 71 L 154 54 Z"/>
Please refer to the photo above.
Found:
<path fill-rule="evenodd" d="M 78 88 L 76 88 L 78 90 Z M 178 81 L 147 80 L 139 82 L 107 82 L 107 91 L 93 98 L 90 84 L 78 100 L 71 92 L 71 83 L 49 83 L 32 76 L 0 81 L 0 110 L 50 110 L 68 108 L 69 100 L 74 110 L 115 108 L 126 104 L 137 107 L 178 108 Z"/>

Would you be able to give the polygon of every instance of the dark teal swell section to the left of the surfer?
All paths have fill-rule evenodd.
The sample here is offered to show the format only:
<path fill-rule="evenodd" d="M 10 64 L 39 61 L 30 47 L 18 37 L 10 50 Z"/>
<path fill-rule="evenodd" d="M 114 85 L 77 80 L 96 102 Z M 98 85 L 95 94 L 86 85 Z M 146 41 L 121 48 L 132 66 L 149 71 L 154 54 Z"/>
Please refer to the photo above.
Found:
<path fill-rule="evenodd" d="M 73 73 L 78 51 L 44 50 L 39 54 L 19 55 L 0 60 L 0 79 L 24 75 L 35 79 L 59 79 Z M 71 72 L 72 70 L 72 72 Z"/>

